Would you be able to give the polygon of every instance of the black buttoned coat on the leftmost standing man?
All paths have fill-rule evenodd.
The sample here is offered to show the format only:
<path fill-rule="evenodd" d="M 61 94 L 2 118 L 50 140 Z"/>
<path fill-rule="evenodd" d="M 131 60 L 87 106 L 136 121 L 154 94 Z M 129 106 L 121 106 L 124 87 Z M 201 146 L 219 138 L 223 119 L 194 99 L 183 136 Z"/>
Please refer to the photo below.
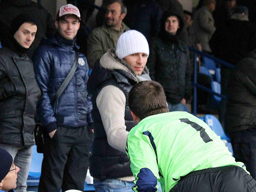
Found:
<path fill-rule="evenodd" d="M 0 143 L 31 146 L 41 92 L 32 61 L 14 38 L 9 43 L 0 49 Z"/>

